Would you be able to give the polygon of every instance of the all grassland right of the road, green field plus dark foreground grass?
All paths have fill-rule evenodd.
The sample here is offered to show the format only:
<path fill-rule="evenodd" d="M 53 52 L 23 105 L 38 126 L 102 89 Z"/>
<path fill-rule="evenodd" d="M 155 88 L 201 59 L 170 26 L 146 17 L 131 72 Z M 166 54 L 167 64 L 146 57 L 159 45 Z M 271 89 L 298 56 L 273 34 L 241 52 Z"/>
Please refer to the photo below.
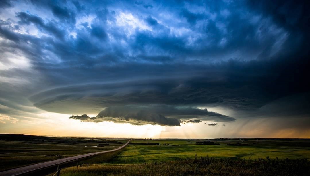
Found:
<path fill-rule="evenodd" d="M 196 144 L 203 142 L 209 145 Z M 136 139 L 114 156 L 98 155 L 82 161 L 96 164 L 68 167 L 60 173 L 62 176 L 307 175 L 309 144 L 309 139 Z"/>

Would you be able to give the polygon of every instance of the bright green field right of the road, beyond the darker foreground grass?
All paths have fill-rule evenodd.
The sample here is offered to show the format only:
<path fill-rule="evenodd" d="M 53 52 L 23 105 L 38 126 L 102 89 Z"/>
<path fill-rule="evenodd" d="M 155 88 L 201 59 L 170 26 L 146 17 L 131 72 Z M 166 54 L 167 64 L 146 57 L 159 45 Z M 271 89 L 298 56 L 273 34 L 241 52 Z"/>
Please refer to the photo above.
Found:
<path fill-rule="evenodd" d="M 132 140 L 112 161 L 115 164 L 133 164 L 152 161 L 170 161 L 198 157 L 231 157 L 241 159 L 310 159 L 308 139 L 213 139 L 221 145 L 197 145 L 204 140 Z M 140 144 L 145 143 L 145 144 Z M 147 145 L 159 143 L 161 145 Z M 245 144 L 231 146 L 227 144 Z"/>

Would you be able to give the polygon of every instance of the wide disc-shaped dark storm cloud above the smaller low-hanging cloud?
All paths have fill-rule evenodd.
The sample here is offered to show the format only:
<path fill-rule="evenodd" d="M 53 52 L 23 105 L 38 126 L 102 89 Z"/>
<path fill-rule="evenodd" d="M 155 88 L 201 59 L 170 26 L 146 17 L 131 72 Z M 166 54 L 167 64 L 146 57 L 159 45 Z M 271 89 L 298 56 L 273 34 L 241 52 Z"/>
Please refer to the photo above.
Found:
<path fill-rule="evenodd" d="M 185 66 L 178 66 L 177 69 L 184 67 L 184 75 L 186 74 Z M 148 66 L 147 69 L 152 67 Z M 196 67 L 197 69 L 198 67 Z M 117 70 L 117 68 L 114 68 Z M 126 72 L 124 68 L 122 71 Z M 215 104 L 228 106 L 234 109 L 255 109 L 259 105 L 259 101 L 264 101 L 268 97 L 255 97 L 248 87 L 234 84 L 232 82 L 222 82 L 213 80 L 212 78 L 186 78 L 185 76 L 175 78 L 164 78 L 159 73 L 161 69 L 156 69 L 158 77 L 156 79 L 137 79 L 136 81 L 126 82 L 111 82 L 106 84 L 82 84 L 68 86 L 63 88 L 51 89 L 39 94 L 33 95 L 30 100 L 35 103 L 35 106 L 52 112 L 73 113 L 70 111 L 76 109 L 74 107 L 82 106 L 85 109 L 99 109 L 101 107 L 119 106 L 119 105 L 149 105 L 149 104 L 164 104 L 164 105 L 206 105 Z M 146 70 L 140 70 L 139 73 L 144 73 Z M 100 71 L 98 72 L 100 73 Z M 75 73 L 72 73 L 75 74 Z M 91 73 L 90 73 L 91 74 Z M 102 73 L 104 74 L 104 73 Z M 209 72 L 212 74 L 212 71 Z M 87 75 L 84 75 L 87 76 Z M 115 75 L 117 76 L 117 75 Z M 139 76 L 137 75 L 137 78 Z M 123 77 L 124 79 L 124 77 Z M 226 88 L 229 86 L 230 88 Z M 228 92 L 233 92 L 229 94 Z M 243 92 L 242 92 L 243 91 Z M 246 92 L 247 91 L 247 92 Z M 220 96 L 218 94 L 221 94 Z M 61 108 L 64 104 L 68 104 L 70 108 Z M 85 104 L 85 105 L 84 105 Z M 97 108 L 95 108 L 97 107 Z M 57 110 L 58 109 L 58 110 Z M 78 110 L 77 109 L 77 110 Z M 85 112 L 79 112 L 85 113 Z M 94 113 L 86 111 L 86 113 Z M 217 116 L 217 114 L 214 114 Z M 218 115 L 219 117 L 221 115 Z"/>

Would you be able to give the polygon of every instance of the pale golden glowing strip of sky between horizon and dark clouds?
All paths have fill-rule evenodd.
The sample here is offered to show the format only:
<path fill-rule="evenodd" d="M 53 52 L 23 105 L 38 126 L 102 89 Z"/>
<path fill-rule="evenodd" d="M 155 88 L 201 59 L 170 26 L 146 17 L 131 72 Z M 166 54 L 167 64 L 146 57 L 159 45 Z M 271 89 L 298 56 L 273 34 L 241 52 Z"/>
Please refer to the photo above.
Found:
<path fill-rule="evenodd" d="M 115 138 L 309 138 L 309 130 L 281 129 L 273 131 L 267 125 L 267 118 L 253 121 L 237 119 L 236 122 L 219 122 L 217 126 L 208 126 L 210 121 L 186 123 L 179 127 L 160 125 L 132 125 L 114 122 L 80 122 L 69 119 L 68 114 L 42 113 L 40 118 L 18 120 L 6 115 L 0 117 L 0 133 L 80 136 L 80 137 L 115 137 Z M 275 120 L 275 122 L 277 122 Z M 225 124 L 225 127 L 222 126 Z"/>

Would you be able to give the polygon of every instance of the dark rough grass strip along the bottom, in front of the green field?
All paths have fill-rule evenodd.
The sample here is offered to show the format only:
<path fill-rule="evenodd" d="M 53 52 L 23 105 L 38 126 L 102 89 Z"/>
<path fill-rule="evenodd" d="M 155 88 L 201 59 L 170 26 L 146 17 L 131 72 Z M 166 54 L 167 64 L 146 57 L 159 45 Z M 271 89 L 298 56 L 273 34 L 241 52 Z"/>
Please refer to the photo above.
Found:
<path fill-rule="evenodd" d="M 245 160 L 200 157 L 177 161 L 129 165 L 91 165 L 61 170 L 61 176 L 182 176 L 182 175 L 308 175 L 310 163 L 305 160 Z M 51 174 L 52 175 L 52 174 Z"/>

